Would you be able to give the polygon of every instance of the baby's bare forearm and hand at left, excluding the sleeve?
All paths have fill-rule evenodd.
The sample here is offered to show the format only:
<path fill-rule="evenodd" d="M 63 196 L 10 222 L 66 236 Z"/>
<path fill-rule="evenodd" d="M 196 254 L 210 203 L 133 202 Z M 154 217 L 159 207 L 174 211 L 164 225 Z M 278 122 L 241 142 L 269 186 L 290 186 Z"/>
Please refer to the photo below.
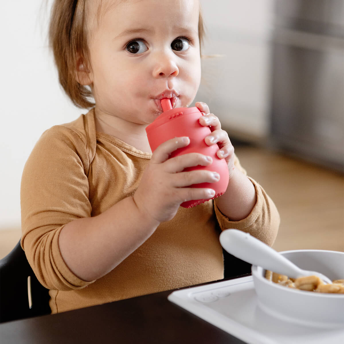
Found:
<path fill-rule="evenodd" d="M 104 276 L 141 246 L 161 222 L 172 219 L 182 202 L 214 196 L 212 189 L 184 187 L 214 182 L 217 177 L 211 172 L 182 172 L 186 167 L 209 165 L 211 160 L 198 153 L 169 159 L 175 149 L 189 143 L 188 138 L 164 142 L 154 151 L 132 197 L 98 216 L 64 226 L 58 241 L 60 251 L 77 276 L 86 281 Z"/>

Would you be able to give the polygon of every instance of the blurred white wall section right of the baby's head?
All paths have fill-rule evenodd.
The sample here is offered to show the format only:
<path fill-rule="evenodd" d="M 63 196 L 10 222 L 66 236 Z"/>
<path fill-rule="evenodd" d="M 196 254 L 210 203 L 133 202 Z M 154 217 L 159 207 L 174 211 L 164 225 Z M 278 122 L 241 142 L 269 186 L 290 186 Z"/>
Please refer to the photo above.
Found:
<path fill-rule="evenodd" d="M 201 0 L 208 40 L 205 99 L 229 133 L 255 141 L 269 131 L 273 0 Z"/>

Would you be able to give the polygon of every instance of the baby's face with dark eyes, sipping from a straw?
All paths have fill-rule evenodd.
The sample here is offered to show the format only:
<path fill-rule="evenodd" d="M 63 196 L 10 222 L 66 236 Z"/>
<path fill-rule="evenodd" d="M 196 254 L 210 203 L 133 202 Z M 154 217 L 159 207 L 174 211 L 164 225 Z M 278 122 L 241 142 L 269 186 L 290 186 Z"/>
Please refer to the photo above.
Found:
<path fill-rule="evenodd" d="M 89 40 L 97 108 L 148 124 L 162 112 L 164 97 L 173 107 L 190 105 L 201 78 L 198 0 L 103 0 L 103 5 L 107 10 Z"/>

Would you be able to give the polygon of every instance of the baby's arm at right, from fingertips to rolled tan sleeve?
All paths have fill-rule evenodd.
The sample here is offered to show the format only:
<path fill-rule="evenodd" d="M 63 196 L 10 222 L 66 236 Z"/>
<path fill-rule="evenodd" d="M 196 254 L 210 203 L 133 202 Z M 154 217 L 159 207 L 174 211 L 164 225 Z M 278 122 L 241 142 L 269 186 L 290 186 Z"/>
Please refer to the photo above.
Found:
<path fill-rule="evenodd" d="M 209 113 L 205 103 L 196 103 L 196 106 L 204 113 L 200 119 L 201 125 L 211 126 L 212 133 L 205 138 L 206 144 L 219 145 L 217 155 L 226 160 L 229 170 L 227 190 L 214 201 L 220 227 L 249 232 L 272 245 L 280 222 L 275 204 L 264 189 L 241 168 L 228 134 L 221 129 L 219 119 Z"/>

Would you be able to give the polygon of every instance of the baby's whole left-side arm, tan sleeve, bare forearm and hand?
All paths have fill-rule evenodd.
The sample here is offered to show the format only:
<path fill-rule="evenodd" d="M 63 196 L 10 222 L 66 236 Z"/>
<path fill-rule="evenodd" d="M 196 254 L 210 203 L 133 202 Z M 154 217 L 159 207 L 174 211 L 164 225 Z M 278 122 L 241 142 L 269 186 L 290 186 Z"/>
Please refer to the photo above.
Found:
<path fill-rule="evenodd" d="M 211 161 L 196 153 L 169 159 L 172 151 L 189 144 L 187 138 L 176 138 L 154 152 L 133 196 L 105 205 L 106 211 L 92 216 L 92 154 L 87 142 L 75 131 L 54 127 L 42 135 L 24 168 L 22 246 L 36 276 L 49 289 L 80 288 L 104 276 L 160 222 L 172 218 L 182 202 L 214 195 L 209 189 L 183 188 L 216 177 L 208 171 L 181 172 Z"/>

